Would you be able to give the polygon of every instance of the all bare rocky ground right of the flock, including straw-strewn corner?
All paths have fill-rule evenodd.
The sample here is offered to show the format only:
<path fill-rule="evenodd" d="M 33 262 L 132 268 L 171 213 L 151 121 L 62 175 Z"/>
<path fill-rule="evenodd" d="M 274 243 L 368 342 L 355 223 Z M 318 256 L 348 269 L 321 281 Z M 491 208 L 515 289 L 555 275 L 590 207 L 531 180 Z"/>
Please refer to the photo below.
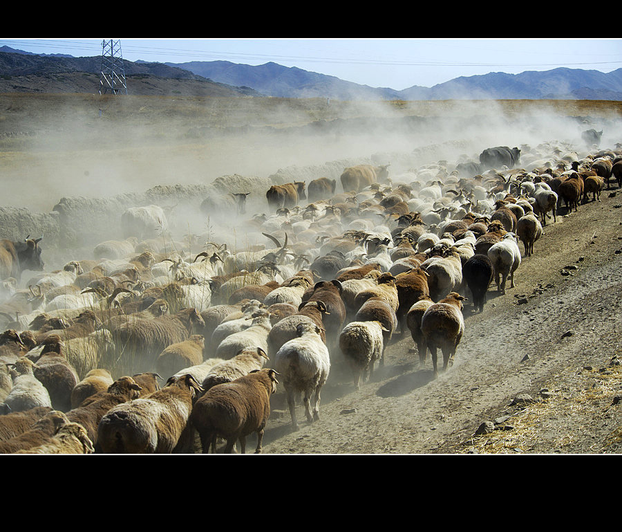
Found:
<path fill-rule="evenodd" d="M 433 380 L 429 356 L 419 369 L 407 331 L 359 391 L 334 367 L 319 421 L 297 432 L 277 392 L 263 452 L 620 452 L 621 252 L 622 193 L 612 187 L 549 221 L 515 288 L 491 288 L 482 313 L 467 302 L 446 373 Z"/>

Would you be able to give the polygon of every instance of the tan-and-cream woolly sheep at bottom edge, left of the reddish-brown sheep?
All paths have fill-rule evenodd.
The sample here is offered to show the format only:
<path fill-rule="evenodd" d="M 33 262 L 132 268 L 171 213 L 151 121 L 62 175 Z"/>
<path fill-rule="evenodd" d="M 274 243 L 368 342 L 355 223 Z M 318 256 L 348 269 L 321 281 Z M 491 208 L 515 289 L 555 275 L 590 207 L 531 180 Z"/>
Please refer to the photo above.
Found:
<path fill-rule="evenodd" d="M 157 392 L 112 407 L 97 425 L 102 452 L 188 452 L 194 437 L 188 420 L 200 394 L 202 388 L 191 375 L 170 377 Z"/>

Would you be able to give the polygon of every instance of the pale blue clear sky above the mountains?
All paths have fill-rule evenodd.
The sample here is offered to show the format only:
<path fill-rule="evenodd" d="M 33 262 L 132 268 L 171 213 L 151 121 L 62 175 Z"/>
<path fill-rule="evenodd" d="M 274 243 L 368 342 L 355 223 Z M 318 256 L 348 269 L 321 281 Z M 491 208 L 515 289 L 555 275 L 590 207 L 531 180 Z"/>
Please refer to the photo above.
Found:
<path fill-rule="evenodd" d="M 111 39 L 105 39 L 110 41 Z M 604 73 L 622 67 L 622 39 L 132 39 L 117 38 L 124 60 L 185 63 L 223 60 L 275 62 L 401 91 L 460 76 L 518 74 L 552 68 Z M 0 39 L 33 53 L 102 55 L 104 39 Z M 115 49 L 117 49 L 115 47 Z"/>

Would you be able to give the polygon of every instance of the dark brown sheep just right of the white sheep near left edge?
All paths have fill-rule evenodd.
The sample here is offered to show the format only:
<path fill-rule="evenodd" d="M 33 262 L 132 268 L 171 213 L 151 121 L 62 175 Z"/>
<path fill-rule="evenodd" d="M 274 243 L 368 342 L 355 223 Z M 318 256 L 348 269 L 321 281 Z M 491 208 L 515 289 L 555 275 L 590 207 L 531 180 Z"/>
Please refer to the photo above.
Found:
<path fill-rule="evenodd" d="M 48 336 L 33 372 L 50 392 L 55 410 L 67 412 L 71 408 L 71 391 L 80 379 L 68 362 L 63 348 L 64 343 L 58 335 Z"/>

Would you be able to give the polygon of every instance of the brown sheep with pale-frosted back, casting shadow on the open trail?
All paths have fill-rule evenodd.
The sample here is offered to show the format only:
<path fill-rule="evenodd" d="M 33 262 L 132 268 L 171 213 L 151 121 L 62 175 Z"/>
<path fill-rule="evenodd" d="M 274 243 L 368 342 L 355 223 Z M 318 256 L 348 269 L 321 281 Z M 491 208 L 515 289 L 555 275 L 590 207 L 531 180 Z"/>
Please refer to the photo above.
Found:
<path fill-rule="evenodd" d="M 437 348 L 440 347 L 443 353 L 443 370 L 453 365 L 455 350 L 464 334 L 463 301 L 466 297 L 451 292 L 431 305 L 421 318 L 421 331 L 432 355 L 435 378 L 438 376 Z"/>

